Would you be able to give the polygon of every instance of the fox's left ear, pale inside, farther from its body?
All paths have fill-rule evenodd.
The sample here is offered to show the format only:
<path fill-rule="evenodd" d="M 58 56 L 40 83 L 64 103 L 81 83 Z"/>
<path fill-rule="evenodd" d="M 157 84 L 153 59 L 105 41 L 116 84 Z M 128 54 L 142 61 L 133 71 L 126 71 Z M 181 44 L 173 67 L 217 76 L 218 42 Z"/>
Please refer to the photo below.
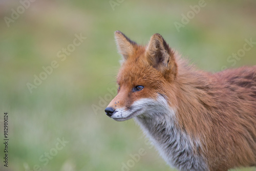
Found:
<path fill-rule="evenodd" d="M 115 39 L 118 52 L 123 56 L 124 60 L 127 60 L 134 53 L 136 42 L 130 40 L 120 31 L 115 31 Z"/>

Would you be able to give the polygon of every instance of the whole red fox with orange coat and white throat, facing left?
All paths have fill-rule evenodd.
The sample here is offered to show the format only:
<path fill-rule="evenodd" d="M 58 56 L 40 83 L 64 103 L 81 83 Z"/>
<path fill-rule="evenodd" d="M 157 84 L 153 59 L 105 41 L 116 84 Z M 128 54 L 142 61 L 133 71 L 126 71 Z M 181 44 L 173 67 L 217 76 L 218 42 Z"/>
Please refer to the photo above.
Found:
<path fill-rule="evenodd" d="M 121 68 L 105 109 L 134 118 L 163 159 L 179 170 L 256 166 L 256 66 L 196 70 L 160 34 L 147 46 L 115 32 Z"/>

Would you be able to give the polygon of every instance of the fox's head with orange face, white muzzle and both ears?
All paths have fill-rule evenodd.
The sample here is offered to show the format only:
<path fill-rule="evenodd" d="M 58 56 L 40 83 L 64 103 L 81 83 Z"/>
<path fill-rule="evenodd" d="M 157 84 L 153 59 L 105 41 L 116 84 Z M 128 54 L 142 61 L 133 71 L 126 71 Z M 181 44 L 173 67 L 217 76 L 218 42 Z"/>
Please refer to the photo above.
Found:
<path fill-rule="evenodd" d="M 121 68 L 117 76 L 116 97 L 105 109 L 116 121 L 135 116 L 150 117 L 174 105 L 175 94 L 170 89 L 177 76 L 174 52 L 160 34 L 154 34 L 147 46 L 137 45 L 120 31 L 115 32 Z"/>

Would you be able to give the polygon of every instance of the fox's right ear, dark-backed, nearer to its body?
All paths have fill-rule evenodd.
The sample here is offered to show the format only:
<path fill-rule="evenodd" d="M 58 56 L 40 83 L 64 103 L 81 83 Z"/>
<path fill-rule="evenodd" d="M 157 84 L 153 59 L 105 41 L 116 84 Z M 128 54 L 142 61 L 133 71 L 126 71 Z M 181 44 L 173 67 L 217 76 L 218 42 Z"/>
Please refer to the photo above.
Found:
<path fill-rule="evenodd" d="M 162 72 L 165 78 L 175 78 L 177 63 L 174 52 L 169 48 L 160 34 L 154 34 L 146 48 L 147 60 L 150 65 Z"/>

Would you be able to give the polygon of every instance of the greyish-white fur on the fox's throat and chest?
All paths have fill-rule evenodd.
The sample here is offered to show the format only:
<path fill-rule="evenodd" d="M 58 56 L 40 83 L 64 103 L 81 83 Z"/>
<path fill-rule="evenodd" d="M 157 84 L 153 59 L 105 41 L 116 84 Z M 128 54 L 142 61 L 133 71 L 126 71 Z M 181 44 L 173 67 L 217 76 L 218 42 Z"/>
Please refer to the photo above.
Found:
<path fill-rule="evenodd" d="M 193 141 L 182 132 L 173 118 L 175 111 L 170 112 L 155 118 L 137 116 L 135 120 L 170 166 L 180 170 L 209 170 L 204 156 L 196 152 L 200 148 L 199 140 Z"/>

